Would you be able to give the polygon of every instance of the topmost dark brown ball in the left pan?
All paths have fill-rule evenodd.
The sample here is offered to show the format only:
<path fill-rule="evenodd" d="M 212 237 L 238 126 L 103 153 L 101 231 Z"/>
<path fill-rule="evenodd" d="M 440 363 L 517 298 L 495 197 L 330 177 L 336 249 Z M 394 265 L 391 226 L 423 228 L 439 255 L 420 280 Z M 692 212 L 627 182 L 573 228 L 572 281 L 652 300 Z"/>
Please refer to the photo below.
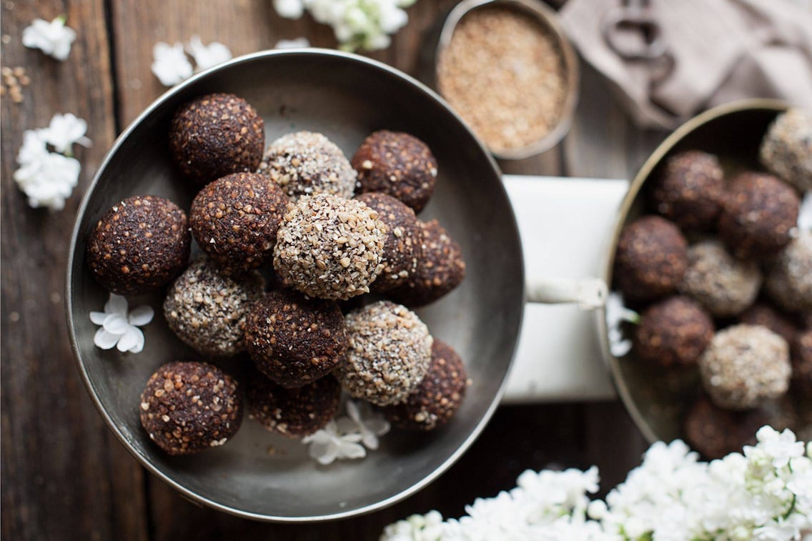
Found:
<path fill-rule="evenodd" d="M 243 98 L 207 94 L 175 112 L 169 147 L 181 173 L 206 184 L 230 173 L 257 170 L 265 124 Z"/>

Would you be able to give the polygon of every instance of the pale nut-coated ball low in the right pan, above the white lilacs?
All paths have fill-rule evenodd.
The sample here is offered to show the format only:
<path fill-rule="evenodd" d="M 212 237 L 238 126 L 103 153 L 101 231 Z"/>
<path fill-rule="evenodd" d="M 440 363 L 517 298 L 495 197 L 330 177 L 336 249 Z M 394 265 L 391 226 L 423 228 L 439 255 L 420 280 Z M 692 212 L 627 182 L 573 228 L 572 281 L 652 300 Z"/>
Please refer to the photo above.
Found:
<path fill-rule="evenodd" d="M 716 333 L 699 357 L 699 373 L 715 405 L 755 408 L 787 392 L 789 347 L 767 327 L 740 323 Z"/>

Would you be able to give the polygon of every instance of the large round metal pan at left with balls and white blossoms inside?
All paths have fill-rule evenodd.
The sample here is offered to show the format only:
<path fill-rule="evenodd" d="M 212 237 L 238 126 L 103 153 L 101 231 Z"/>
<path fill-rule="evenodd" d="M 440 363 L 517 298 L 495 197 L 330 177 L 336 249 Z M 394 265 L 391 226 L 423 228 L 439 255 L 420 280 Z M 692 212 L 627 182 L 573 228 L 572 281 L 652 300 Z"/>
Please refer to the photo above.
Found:
<path fill-rule="evenodd" d="M 521 261 L 495 162 L 430 89 L 268 51 L 119 136 L 76 221 L 67 320 L 102 417 L 158 478 L 241 517 L 322 521 L 408 496 L 473 443 Z"/>

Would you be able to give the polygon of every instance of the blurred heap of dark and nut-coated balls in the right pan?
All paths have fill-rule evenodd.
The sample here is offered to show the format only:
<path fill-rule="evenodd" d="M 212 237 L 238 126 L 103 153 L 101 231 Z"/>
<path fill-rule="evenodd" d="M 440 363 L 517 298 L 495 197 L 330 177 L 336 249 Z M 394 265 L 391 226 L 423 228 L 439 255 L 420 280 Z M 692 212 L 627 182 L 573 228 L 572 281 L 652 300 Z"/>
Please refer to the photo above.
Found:
<path fill-rule="evenodd" d="M 647 187 L 654 213 L 628 223 L 615 252 L 615 288 L 641 311 L 633 351 L 698 370 L 685 437 L 711 458 L 763 424 L 812 423 L 812 231 L 797 227 L 812 114 L 778 115 L 760 158 L 764 171 L 725 175 L 712 154 L 673 154 Z"/>

